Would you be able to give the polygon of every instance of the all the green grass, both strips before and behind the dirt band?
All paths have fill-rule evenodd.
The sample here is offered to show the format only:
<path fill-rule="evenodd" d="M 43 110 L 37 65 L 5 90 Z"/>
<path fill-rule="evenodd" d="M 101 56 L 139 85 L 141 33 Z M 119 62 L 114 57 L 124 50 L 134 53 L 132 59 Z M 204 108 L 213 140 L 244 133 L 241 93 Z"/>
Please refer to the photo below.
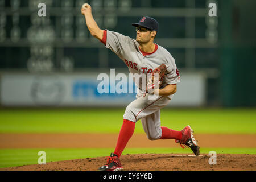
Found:
<path fill-rule="evenodd" d="M 0 110 L 0 133 L 118 133 L 125 109 Z M 256 134 L 256 109 L 163 109 L 162 125 L 180 130 L 186 125 L 196 133 Z M 144 133 L 140 122 L 135 133 Z M 0 168 L 36 164 L 38 152 L 47 162 L 108 156 L 113 148 L 1 149 Z M 203 148 L 218 154 L 256 154 L 256 148 Z M 182 148 L 126 148 L 123 154 L 190 153 Z"/>

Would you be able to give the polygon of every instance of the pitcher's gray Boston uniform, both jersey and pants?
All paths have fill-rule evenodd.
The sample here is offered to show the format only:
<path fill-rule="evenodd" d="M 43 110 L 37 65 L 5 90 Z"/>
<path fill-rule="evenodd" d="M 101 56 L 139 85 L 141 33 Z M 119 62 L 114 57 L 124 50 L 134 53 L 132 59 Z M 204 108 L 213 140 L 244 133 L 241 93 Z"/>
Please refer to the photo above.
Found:
<path fill-rule="evenodd" d="M 106 48 L 109 48 L 125 62 L 130 73 L 151 73 L 156 67 L 164 63 L 168 67 L 168 74 L 162 85 L 180 82 L 180 75 L 174 58 L 158 44 L 155 44 L 156 49 L 153 53 L 143 55 L 136 40 L 109 30 L 104 31 L 103 43 Z M 140 87 L 138 83 L 135 82 L 135 84 Z M 142 93 L 138 92 L 136 97 L 137 99 L 126 107 L 123 118 L 133 122 L 141 119 L 148 139 L 159 139 L 162 135 L 160 109 L 170 102 L 173 95 L 158 96 L 155 100 L 149 100 L 148 94 L 146 97 L 142 97 Z"/>

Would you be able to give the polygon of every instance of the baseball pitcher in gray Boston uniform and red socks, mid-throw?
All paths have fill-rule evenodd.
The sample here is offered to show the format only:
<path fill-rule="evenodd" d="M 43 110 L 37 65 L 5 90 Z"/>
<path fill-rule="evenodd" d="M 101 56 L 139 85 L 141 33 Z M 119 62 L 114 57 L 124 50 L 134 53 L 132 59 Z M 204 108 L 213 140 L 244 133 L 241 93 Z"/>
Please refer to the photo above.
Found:
<path fill-rule="evenodd" d="M 177 83 L 180 82 L 180 75 L 172 55 L 165 48 L 154 43 L 159 31 L 158 22 L 154 18 L 144 16 L 138 23 L 133 23 L 132 26 L 136 28 L 136 40 L 134 40 L 117 32 L 101 30 L 93 19 L 92 8 L 88 3 L 82 5 L 81 13 L 85 16 L 90 34 L 113 51 L 127 65 L 130 73 L 159 75 L 158 80 L 152 79 L 147 84 L 147 88 L 154 89 L 151 93 L 147 92 L 147 89 L 144 93 L 141 85 L 135 82 L 139 88 L 136 99 L 126 107 L 115 150 L 99 170 L 122 170 L 119 158 L 134 133 L 135 123 L 139 120 L 148 139 L 175 139 L 181 147 L 190 147 L 195 155 L 200 155 L 200 147 L 189 125 L 181 131 L 160 125 L 160 109 L 170 103 L 177 90 Z M 154 87 L 155 82 L 159 86 Z M 149 98 L 155 93 L 158 94 L 154 99 Z"/>

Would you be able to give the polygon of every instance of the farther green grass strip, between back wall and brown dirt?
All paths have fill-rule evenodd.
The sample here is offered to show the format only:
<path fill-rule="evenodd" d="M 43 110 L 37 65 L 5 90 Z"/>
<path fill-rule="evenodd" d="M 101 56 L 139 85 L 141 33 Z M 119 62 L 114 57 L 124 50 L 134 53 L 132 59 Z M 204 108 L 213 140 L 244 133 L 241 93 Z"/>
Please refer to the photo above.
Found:
<path fill-rule="evenodd" d="M 0 133 L 118 133 L 125 109 L 0 110 Z M 256 134 L 256 109 L 162 109 L 163 126 Z M 144 133 L 140 121 L 136 133 Z"/>

